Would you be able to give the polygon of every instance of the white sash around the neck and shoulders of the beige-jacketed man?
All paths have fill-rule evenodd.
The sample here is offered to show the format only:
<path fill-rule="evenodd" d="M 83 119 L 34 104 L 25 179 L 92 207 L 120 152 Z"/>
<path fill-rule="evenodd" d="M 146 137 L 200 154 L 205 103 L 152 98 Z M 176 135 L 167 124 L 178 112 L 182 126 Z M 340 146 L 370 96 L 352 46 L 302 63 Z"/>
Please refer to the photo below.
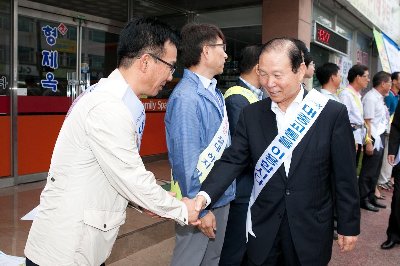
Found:
<path fill-rule="evenodd" d="M 144 123 L 146 122 L 146 113 L 144 111 L 144 106 L 139 98 L 132 91 L 128 83 L 119 80 L 119 79 L 106 79 L 101 78 L 100 81 L 88 89 L 86 89 L 75 101 L 72 103 L 66 118 L 70 114 L 72 108 L 76 104 L 76 102 L 83 97 L 86 93 L 91 93 L 92 91 L 107 91 L 112 93 L 116 97 L 122 99 L 125 103 L 126 107 L 128 107 L 129 111 L 132 114 L 132 118 L 135 124 L 136 134 L 138 136 L 137 145 L 138 150 L 140 150 L 140 143 L 142 142 Z"/>

